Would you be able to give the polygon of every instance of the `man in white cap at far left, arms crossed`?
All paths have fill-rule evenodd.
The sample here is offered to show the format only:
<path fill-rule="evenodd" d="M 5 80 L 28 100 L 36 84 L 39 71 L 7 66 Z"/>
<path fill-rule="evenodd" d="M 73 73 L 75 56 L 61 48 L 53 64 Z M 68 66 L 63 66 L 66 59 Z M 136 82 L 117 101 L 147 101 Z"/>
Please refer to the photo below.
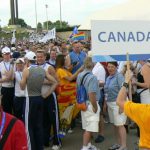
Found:
<path fill-rule="evenodd" d="M 2 107 L 5 112 L 11 114 L 13 111 L 14 83 L 12 80 L 13 64 L 11 64 L 10 53 L 10 48 L 4 47 L 2 49 L 3 61 L 0 63 L 0 83 L 2 83 Z"/>

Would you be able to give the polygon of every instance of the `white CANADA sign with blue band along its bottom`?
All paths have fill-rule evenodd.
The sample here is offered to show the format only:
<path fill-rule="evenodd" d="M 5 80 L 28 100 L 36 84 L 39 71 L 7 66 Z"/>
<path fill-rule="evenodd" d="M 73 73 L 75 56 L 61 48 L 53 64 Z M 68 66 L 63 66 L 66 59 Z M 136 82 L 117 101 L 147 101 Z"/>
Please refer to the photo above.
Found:
<path fill-rule="evenodd" d="M 150 21 L 92 21 L 94 61 L 150 58 Z"/>

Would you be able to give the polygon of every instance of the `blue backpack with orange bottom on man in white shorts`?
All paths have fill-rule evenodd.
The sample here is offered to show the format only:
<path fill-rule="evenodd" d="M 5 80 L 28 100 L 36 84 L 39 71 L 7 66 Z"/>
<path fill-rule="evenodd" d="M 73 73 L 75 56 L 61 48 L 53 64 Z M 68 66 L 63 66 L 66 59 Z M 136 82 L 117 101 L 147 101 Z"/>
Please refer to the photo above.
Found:
<path fill-rule="evenodd" d="M 86 100 L 88 99 L 88 95 L 86 92 L 86 89 L 84 87 L 83 81 L 85 79 L 85 77 L 90 74 L 89 72 L 87 72 L 81 80 L 80 85 L 77 87 L 77 108 L 82 110 L 82 111 L 86 111 L 87 106 L 86 106 Z"/>

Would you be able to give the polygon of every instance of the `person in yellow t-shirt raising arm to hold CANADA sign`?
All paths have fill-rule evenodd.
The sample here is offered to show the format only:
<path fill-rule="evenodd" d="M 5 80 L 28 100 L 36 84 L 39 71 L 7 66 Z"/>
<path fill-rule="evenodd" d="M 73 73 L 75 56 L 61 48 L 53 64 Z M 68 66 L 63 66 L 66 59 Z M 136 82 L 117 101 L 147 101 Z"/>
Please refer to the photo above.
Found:
<path fill-rule="evenodd" d="M 137 104 L 126 101 L 127 88 L 130 81 L 130 73 L 126 73 L 125 82 L 118 94 L 117 104 L 125 114 L 131 118 L 140 128 L 140 150 L 150 150 L 150 104 Z"/>

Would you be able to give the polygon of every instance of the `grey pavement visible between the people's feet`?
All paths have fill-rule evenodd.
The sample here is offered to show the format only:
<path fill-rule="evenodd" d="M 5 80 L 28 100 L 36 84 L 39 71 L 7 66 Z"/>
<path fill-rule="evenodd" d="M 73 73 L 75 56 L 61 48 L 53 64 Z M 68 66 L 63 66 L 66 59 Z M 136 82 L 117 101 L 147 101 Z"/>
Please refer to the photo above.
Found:
<path fill-rule="evenodd" d="M 63 146 L 61 150 L 80 150 L 82 147 L 82 129 L 81 125 L 77 124 L 74 128 L 74 132 L 67 134 L 63 139 Z M 96 134 L 94 134 L 94 138 Z M 128 150 L 135 150 L 135 142 L 137 141 L 136 130 L 130 130 L 127 135 L 127 146 Z M 100 144 L 93 144 L 100 150 L 107 150 L 109 146 L 116 143 L 116 138 L 114 136 L 113 126 L 111 124 L 105 124 L 105 141 Z M 46 148 L 45 150 L 51 150 L 51 148 Z"/>

